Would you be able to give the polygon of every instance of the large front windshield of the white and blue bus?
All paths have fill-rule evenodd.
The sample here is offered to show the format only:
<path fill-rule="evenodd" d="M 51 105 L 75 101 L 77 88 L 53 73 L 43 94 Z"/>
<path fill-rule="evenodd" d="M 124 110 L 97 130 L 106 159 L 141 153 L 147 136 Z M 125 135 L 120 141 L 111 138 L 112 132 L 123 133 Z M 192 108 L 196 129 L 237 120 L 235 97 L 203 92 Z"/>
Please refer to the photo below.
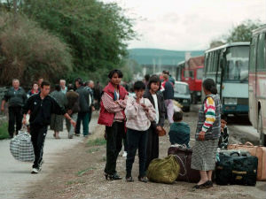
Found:
<path fill-rule="evenodd" d="M 248 80 L 248 53 L 248 46 L 236 46 L 227 50 L 223 80 Z"/>

